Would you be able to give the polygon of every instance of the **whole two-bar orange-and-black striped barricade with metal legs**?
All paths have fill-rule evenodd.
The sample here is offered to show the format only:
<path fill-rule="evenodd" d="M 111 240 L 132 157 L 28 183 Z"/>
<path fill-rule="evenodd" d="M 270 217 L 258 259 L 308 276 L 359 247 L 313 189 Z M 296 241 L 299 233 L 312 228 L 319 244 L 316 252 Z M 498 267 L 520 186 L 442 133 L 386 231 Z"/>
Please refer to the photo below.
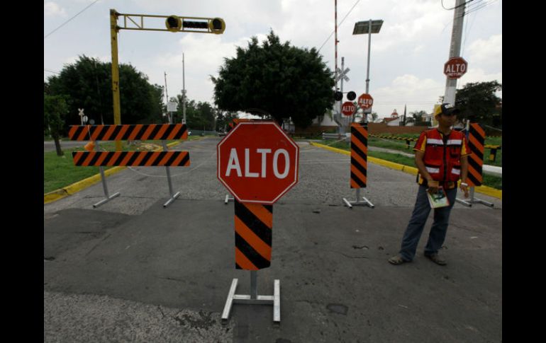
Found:
<path fill-rule="evenodd" d="M 165 166 L 170 199 L 163 204 L 163 208 L 179 197 L 180 192 L 173 194 L 172 191 L 169 166 L 189 166 L 189 152 L 167 151 L 165 140 L 187 139 L 188 130 L 185 124 L 74 125 L 70 127 L 68 136 L 72 141 L 162 141 L 164 151 L 99 151 L 97 143 L 95 145 L 96 151 L 72 152 L 74 165 L 99 166 L 106 199 L 94 204 L 94 208 L 119 195 L 119 192 L 113 195 L 108 194 L 103 168 L 105 166 Z"/>

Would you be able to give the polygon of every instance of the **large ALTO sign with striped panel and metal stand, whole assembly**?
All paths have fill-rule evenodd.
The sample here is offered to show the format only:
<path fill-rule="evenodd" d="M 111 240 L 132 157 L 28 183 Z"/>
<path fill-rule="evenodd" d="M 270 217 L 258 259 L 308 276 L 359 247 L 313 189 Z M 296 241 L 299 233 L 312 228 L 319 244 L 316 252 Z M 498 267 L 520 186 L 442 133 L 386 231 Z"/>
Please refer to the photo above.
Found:
<path fill-rule="evenodd" d="M 277 123 L 253 121 L 236 124 L 216 149 L 218 180 L 234 197 L 235 269 L 250 271 L 250 294 L 236 294 L 238 279 L 232 280 L 222 322 L 234 303 L 245 303 L 272 305 L 279 324 L 280 280 L 273 295 L 258 295 L 257 271 L 271 265 L 273 204 L 298 182 L 299 146 Z"/>

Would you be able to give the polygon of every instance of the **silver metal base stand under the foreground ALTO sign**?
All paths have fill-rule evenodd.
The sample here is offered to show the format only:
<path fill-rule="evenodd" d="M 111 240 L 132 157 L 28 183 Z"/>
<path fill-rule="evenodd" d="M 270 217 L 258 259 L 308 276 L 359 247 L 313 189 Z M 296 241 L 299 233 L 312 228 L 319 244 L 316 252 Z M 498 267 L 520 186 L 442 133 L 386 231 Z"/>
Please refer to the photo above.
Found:
<path fill-rule="evenodd" d="M 231 281 L 228 300 L 225 301 L 225 306 L 222 313 L 222 324 L 225 324 L 230 316 L 231 306 L 233 303 L 245 303 L 247 305 L 273 305 L 273 322 L 280 324 L 281 322 L 281 281 L 274 280 L 274 294 L 272 296 L 259 296 L 257 289 L 257 271 L 250 271 L 250 295 L 235 294 L 237 289 L 238 279 Z"/>

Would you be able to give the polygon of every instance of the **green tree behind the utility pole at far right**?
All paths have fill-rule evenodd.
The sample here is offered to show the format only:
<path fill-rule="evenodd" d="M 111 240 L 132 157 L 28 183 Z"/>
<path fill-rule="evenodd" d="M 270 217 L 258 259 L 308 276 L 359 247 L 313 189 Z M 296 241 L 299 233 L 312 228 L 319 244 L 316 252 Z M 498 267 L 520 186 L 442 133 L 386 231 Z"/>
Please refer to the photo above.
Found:
<path fill-rule="evenodd" d="M 467 83 L 457 90 L 455 105 L 461 111 L 458 120 L 502 127 L 502 99 L 495 93 L 502 91 L 497 81 Z"/>

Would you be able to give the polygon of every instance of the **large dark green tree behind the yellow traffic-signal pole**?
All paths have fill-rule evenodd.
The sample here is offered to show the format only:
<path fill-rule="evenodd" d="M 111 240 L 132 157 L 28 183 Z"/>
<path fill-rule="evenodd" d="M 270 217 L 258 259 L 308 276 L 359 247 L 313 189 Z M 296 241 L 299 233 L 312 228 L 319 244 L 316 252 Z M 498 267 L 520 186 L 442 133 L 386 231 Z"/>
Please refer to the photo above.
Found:
<path fill-rule="evenodd" d="M 162 121 L 163 88 L 151 85 L 140 71 L 130 64 L 120 64 L 120 103 L 122 124 L 150 124 Z M 70 97 L 68 125 L 79 125 L 78 108 L 96 124 L 113 124 L 111 63 L 81 56 L 66 65 L 60 75 L 48 78 L 51 95 Z M 44 84 L 45 88 L 45 84 Z"/>

